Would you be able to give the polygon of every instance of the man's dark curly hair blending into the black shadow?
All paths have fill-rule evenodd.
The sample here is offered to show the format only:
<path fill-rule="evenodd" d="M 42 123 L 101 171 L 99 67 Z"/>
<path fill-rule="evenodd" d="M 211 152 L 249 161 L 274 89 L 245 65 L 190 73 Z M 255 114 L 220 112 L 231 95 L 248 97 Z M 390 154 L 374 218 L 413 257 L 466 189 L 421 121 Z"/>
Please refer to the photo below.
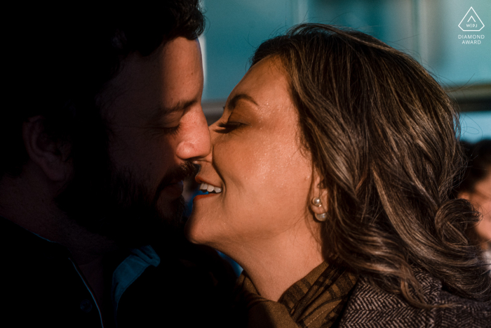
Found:
<path fill-rule="evenodd" d="M 176 37 L 196 39 L 205 28 L 198 0 L 53 9 L 9 11 L 15 17 L 4 29 L 8 87 L 0 110 L 0 178 L 17 176 L 27 161 L 22 122 L 28 117 L 45 117 L 51 138 L 69 140 L 72 155 L 81 147 L 107 143 L 97 96 L 125 58 L 152 55 Z"/>

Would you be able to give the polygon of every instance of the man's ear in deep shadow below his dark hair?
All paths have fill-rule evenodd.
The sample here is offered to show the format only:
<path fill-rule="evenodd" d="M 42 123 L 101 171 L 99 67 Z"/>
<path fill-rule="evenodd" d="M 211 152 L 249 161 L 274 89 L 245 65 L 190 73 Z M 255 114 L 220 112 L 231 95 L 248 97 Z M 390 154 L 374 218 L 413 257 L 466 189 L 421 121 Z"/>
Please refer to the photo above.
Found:
<path fill-rule="evenodd" d="M 69 178 L 72 171 L 72 164 L 67 161 L 69 146 L 48 136 L 44 117 L 29 117 L 22 124 L 22 138 L 29 159 L 39 166 L 49 180 L 64 182 Z"/>

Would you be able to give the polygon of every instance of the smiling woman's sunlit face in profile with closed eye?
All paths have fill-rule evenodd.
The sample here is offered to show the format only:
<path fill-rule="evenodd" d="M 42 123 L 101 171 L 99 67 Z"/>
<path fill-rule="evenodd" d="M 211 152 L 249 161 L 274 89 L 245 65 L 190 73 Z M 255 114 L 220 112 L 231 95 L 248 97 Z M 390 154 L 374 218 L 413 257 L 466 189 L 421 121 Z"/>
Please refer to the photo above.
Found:
<path fill-rule="evenodd" d="M 300 146 L 298 114 L 279 60 L 251 67 L 210 133 L 213 149 L 196 162 L 196 181 L 221 192 L 194 198 L 188 239 L 234 256 L 234 247 L 301 229 L 312 165 Z"/>

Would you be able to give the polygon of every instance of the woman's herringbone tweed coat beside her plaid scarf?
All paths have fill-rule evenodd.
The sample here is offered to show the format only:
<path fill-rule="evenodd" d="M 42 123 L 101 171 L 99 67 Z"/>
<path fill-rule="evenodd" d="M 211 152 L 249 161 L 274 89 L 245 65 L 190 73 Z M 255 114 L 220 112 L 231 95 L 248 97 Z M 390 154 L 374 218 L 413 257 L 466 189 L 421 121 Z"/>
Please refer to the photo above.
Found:
<path fill-rule="evenodd" d="M 491 306 L 459 298 L 442 289 L 439 280 L 419 271 L 416 278 L 422 284 L 426 302 L 456 303 L 450 308 L 422 310 L 414 308 L 400 296 L 372 287 L 360 277 L 342 314 L 339 327 L 491 327 Z"/>

